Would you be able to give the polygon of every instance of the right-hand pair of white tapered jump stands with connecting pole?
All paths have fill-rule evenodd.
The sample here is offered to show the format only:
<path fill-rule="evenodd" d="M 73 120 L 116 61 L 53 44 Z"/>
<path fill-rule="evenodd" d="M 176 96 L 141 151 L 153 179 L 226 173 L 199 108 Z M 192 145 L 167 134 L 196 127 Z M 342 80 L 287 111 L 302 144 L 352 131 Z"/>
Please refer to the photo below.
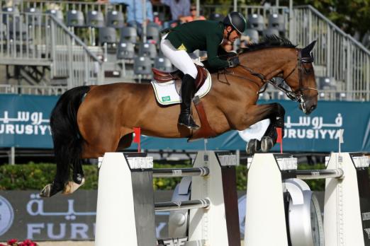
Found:
<path fill-rule="evenodd" d="M 361 153 L 332 153 L 327 170 L 296 170 L 296 158 L 289 155 L 254 154 L 247 181 L 245 246 L 291 245 L 283 181 L 293 177 L 326 179 L 326 246 L 370 245 L 368 162 Z"/>

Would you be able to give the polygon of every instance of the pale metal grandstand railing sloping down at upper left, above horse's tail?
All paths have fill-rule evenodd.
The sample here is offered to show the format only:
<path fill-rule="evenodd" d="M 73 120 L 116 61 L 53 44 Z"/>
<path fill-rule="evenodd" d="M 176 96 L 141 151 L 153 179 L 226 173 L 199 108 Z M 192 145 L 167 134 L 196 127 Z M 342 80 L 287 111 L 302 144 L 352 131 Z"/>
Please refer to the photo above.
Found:
<path fill-rule="evenodd" d="M 0 12 L 0 64 L 47 66 L 72 88 L 103 81 L 102 63 L 55 16 Z"/>

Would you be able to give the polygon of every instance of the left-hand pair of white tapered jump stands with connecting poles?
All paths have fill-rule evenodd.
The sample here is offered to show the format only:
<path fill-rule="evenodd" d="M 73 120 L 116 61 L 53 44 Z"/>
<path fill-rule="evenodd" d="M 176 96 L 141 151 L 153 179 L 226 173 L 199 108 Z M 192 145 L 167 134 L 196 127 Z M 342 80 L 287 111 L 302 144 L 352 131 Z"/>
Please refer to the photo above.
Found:
<path fill-rule="evenodd" d="M 95 245 L 156 245 L 155 211 L 179 209 L 190 209 L 185 245 L 240 245 L 236 156 L 199 151 L 194 168 L 153 170 L 152 158 L 145 155 L 104 155 L 99 168 Z M 191 201 L 155 204 L 153 176 L 191 176 Z"/>

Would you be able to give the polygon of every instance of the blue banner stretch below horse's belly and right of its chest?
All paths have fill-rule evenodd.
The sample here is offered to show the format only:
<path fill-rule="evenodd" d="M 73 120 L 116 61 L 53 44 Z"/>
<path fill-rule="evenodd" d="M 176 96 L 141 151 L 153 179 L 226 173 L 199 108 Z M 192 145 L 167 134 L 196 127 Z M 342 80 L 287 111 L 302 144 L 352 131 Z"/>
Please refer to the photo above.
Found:
<path fill-rule="evenodd" d="M 298 109 L 298 103 L 288 100 L 259 101 L 259 104 L 279 102 L 286 110 L 283 146 L 284 152 L 338 151 L 340 129 L 344 129 L 342 151 L 370 152 L 370 102 L 320 101 L 310 115 Z M 247 142 L 238 131 L 229 131 L 208 139 L 211 150 L 245 150 Z M 135 148 L 135 144 L 131 149 Z M 146 149 L 204 149 L 204 141 L 187 143 L 186 139 L 142 137 Z M 279 151 L 279 144 L 272 151 Z"/>

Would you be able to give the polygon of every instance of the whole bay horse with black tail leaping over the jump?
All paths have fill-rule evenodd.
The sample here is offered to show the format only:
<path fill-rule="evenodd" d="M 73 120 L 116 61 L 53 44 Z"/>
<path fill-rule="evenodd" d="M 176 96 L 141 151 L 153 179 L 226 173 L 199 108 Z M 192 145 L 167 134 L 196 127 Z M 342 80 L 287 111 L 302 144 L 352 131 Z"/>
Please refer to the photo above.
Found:
<path fill-rule="evenodd" d="M 244 130 L 262 119 L 270 119 L 262 141 L 252 139 L 249 153 L 269 151 L 276 143 L 276 127 L 284 133 L 285 110 L 279 103 L 257 105 L 259 91 L 271 78 L 281 77 L 291 90 L 288 97 L 309 114 L 318 103 L 318 90 L 311 50 L 315 42 L 296 48 L 283 37 L 268 37 L 240 52 L 240 65 L 211 74 L 212 88 L 201 98 L 215 136 L 230 129 Z M 200 119 L 194 112 L 196 124 Z M 74 192 L 84 183 L 82 158 L 99 158 L 106 152 L 128 148 L 133 128 L 142 134 L 164 138 L 188 138 L 192 132 L 177 124 L 179 105 L 162 106 L 149 83 L 113 83 L 79 86 L 61 95 L 50 117 L 57 162 L 54 181 L 40 192 L 51 197 L 57 192 Z M 69 170 L 73 170 L 72 181 Z"/>

